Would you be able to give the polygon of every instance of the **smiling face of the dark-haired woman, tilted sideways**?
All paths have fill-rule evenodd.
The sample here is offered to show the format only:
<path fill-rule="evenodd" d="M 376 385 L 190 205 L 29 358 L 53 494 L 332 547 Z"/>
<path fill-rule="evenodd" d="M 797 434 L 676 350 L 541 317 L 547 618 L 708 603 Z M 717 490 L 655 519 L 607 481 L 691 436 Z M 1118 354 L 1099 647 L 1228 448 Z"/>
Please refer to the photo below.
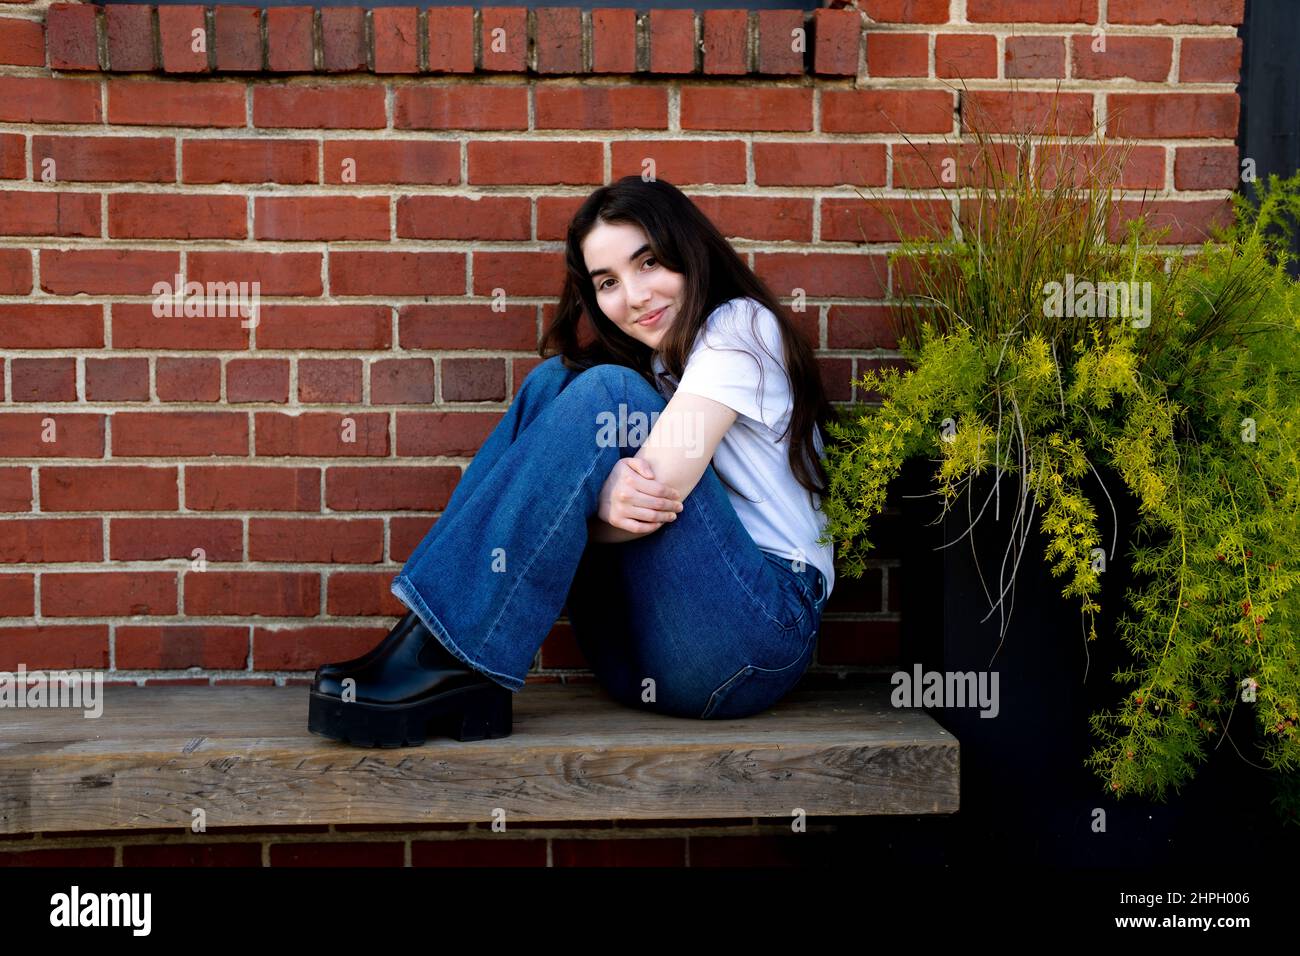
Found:
<path fill-rule="evenodd" d="M 649 242 L 641 226 L 597 222 L 582 242 L 582 258 L 601 311 L 659 351 L 664 333 L 677 319 L 686 282 L 680 272 L 659 264 Z"/>

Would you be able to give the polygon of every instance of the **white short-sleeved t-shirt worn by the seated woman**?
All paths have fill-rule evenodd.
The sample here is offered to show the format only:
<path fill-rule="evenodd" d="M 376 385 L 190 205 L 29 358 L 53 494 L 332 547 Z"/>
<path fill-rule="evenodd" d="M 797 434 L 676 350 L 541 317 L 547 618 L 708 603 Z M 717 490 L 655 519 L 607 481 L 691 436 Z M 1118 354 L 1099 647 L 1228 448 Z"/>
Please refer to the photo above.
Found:
<path fill-rule="evenodd" d="M 755 332 L 762 336 L 762 347 L 754 339 Z M 658 355 L 651 362 L 656 376 L 664 371 Z M 789 460 L 792 436 L 780 437 L 794 402 L 776 316 L 755 299 L 724 302 L 708 315 L 696 337 L 681 381 L 675 382 L 671 376 L 656 381 L 664 398 L 686 392 L 736 410 L 736 421 L 712 460 L 718 473 L 746 496 L 727 489 L 736 515 L 759 550 L 802 559 L 818 568 L 829 597 L 835 587 L 835 548 L 816 544 L 827 524 L 822 501 L 794 477 Z M 814 446 L 824 457 L 819 431 L 814 429 Z"/>

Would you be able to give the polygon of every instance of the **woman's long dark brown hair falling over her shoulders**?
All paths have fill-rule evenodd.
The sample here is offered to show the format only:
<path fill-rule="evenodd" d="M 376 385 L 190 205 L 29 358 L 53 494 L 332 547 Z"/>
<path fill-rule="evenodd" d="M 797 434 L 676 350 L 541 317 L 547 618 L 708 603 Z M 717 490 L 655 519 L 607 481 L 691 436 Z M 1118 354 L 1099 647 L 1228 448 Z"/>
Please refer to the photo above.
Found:
<path fill-rule="evenodd" d="M 564 365 L 575 371 L 606 363 L 627 365 L 650 385 L 655 384 L 654 350 L 615 325 L 595 300 L 582 242 L 602 222 L 641 226 L 659 264 L 685 278 L 681 311 L 660 343 L 659 360 L 667 369 L 666 375 L 681 378 L 696 336 L 710 312 L 724 302 L 750 298 L 776 316 L 794 399 L 788 427 L 793 434 L 790 470 L 803 488 L 824 497 L 829 481 L 816 454 L 812 429 L 819 427 L 824 441 L 826 424 L 832 420 L 833 411 L 826 398 L 812 347 L 767 285 L 676 186 L 663 179 L 647 182 L 640 176 L 627 176 L 586 198 L 573 215 L 564 239 L 564 287 L 555 319 L 542 336 L 540 354 L 543 358 L 559 354 Z M 762 341 L 758 336 L 755 338 Z"/>

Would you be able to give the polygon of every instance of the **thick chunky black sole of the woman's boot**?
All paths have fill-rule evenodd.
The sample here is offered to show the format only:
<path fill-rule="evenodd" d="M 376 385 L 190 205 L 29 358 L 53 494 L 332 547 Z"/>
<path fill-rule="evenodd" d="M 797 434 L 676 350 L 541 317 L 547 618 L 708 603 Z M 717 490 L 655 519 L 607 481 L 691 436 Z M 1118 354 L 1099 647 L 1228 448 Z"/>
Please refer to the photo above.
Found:
<path fill-rule="evenodd" d="M 497 740 L 514 730 L 504 687 L 463 687 L 411 704 L 344 702 L 311 692 L 307 730 L 355 747 L 419 747 L 429 736 Z"/>

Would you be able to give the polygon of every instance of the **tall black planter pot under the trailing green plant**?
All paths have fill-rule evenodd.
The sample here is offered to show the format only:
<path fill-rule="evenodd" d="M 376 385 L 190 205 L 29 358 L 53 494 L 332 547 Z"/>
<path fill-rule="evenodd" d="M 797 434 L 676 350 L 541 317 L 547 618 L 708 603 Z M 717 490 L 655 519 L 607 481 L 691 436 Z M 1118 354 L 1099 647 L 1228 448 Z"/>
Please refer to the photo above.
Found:
<path fill-rule="evenodd" d="M 916 459 L 900 479 L 905 528 L 900 670 L 911 674 L 919 665 L 923 672 L 983 671 L 989 683 L 997 674 L 996 717 L 982 717 L 978 705 L 930 708 L 961 743 L 962 809 L 956 827 L 959 845 L 950 848 L 954 856 L 968 862 L 993 856 L 1040 865 L 1134 866 L 1205 862 L 1208 853 L 1221 853 L 1226 862 L 1240 840 L 1294 844 L 1295 835 L 1282 832 L 1268 806 L 1271 790 L 1265 774 L 1235 752 L 1251 753 L 1249 711 L 1239 713 L 1234 722 L 1239 726 L 1230 728 L 1235 745 L 1225 741 L 1166 803 L 1115 799 L 1084 766 L 1096 747 L 1088 715 L 1117 709 L 1123 688 L 1112 675 L 1132 663 L 1114 626 L 1127 610 L 1124 592 L 1134 581 L 1128 546 L 1136 524 L 1136 502 L 1119 477 L 1102 472 L 1114 518 L 1096 477 L 1089 475 L 1084 484 L 1106 550 L 1097 640 L 1087 643 L 1079 600 L 1061 596 L 1067 579 L 1053 576 L 1044 558 L 1041 509 L 1032 515 L 1014 584 L 1004 598 L 1005 637 L 1002 613 L 988 615 L 1011 579 L 1014 554 L 1008 554 L 1008 542 L 1019 477 L 1002 476 L 998 512 L 991 499 L 971 533 L 974 541 L 967 535 L 944 548 L 971 523 L 967 498 L 970 515 L 980 514 L 993 476 L 971 483 L 939 520 L 937 497 L 907 497 L 932 493 L 933 471 L 933 464 Z M 1112 555 L 1115 527 L 1119 536 Z"/>

